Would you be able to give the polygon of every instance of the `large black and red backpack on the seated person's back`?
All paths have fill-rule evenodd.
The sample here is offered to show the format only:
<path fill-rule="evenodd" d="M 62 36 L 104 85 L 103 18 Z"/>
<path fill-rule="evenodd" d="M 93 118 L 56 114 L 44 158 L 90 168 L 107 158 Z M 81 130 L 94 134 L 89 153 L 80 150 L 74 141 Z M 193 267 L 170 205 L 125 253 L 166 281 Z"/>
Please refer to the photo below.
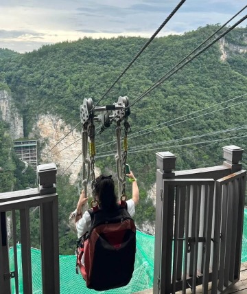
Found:
<path fill-rule="evenodd" d="M 127 203 L 107 212 L 88 210 L 91 229 L 78 246 L 78 267 L 86 286 L 97 291 L 126 286 L 134 271 L 136 227 L 127 211 Z M 82 255 L 84 254 L 84 264 Z"/>

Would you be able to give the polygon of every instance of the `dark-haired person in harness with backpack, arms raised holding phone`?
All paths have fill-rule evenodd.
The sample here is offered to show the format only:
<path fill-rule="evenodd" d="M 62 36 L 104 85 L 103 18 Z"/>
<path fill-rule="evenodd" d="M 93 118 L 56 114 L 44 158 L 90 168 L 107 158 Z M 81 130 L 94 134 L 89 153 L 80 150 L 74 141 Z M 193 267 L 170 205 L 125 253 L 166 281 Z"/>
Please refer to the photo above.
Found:
<path fill-rule="evenodd" d="M 132 217 L 139 202 L 139 188 L 134 174 L 126 174 L 132 182 L 132 199 L 117 203 L 111 176 L 97 177 L 95 184 L 98 207 L 82 215 L 84 190 L 78 201 L 75 227 L 78 238 L 84 240 L 78 252 L 80 268 L 86 286 L 103 291 L 126 286 L 134 271 L 136 228 Z"/>

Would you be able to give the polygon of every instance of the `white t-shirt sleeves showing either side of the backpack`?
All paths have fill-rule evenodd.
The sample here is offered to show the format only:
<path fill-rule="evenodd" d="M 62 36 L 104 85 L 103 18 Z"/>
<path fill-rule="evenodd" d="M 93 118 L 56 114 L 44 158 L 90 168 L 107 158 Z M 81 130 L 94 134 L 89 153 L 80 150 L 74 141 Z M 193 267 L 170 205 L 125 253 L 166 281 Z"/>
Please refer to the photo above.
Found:
<path fill-rule="evenodd" d="M 127 210 L 130 216 L 134 216 L 135 209 L 134 209 L 134 201 L 132 199 L 127 200 Z M 87 231 L 89 231 L 91 227 L 91 216 L 88 211 L 84 212 L 82 218 L 75 223 L 75 227 L 78 231 L 78 238 L 83 236 Z"/>

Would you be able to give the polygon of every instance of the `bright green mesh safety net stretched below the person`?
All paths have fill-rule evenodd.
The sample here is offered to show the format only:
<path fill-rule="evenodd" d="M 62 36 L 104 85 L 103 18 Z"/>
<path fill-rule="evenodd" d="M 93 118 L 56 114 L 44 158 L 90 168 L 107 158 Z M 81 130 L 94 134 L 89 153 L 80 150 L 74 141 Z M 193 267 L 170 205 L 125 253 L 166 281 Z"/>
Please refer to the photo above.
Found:
<path fill-rule="evenodd" d="M 34 294 L 42 294 L 41 253 L 38 249 L 31 249 L 32 254 L 32 285 Z M 17 245 L 17 261 L 19 274 L 19 293 L 23 293 L 21 270 L 21 245 Z M 242 262 L 247 261 L 247 210 L 244 211 L 244 232 L 242 243 Z M 99 293 L 86 288 L 86 284 L 79 274 L 75 273 L 75 256 L 60 256 L 60 293 L 61 294 L 93 294 Z M 14 253 L 10 249 L 10 266 L 14 271 Z M 100 293 L 130 294 L 152 288 L 154 272 L 154 236 L 137 231 L 137 254 L 134 264 L 132 280 L 127 286 L 119 289 L 101 291 Z M 15 293 L 14 279 L 12 293 Z"/>

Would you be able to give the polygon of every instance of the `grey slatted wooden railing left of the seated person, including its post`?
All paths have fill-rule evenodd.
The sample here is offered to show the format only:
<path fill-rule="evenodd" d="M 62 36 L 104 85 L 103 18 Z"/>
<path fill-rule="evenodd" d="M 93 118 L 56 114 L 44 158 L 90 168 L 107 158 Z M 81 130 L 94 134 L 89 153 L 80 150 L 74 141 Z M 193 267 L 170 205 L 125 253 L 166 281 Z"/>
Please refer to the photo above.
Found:
<path fill-rule="evenodd" d="M 32 260 L 30 237 L 30 209 L 39 207 L 40 248 L 42 259 L 43 293 L 60 293 L 59 288 L 59 251 L 58 251 L 58 195 L 56 194 L 56 165 L 54 163 L 38 166 L 40 187 L 23 191 L 0 194 L 0 293 L 9 294 L 11 280 L 14 279 L 15 293 L 19 286 L 23 293 L 31 294 Z M 21 229 L 21 264 L 17 260 L 16 214 L 19 216 Z M 7 217 L 8 216 L 8 217 Z M 11 223 L 11 225 L 9 225 Z M 10 232 L 10 227 L 12 231 Z M 10 271 L 9 238 L 12 236 L 14 251 L 14 270 Z M 18 268 L 22 266 L 22 281 L 19 280 Z"/>

